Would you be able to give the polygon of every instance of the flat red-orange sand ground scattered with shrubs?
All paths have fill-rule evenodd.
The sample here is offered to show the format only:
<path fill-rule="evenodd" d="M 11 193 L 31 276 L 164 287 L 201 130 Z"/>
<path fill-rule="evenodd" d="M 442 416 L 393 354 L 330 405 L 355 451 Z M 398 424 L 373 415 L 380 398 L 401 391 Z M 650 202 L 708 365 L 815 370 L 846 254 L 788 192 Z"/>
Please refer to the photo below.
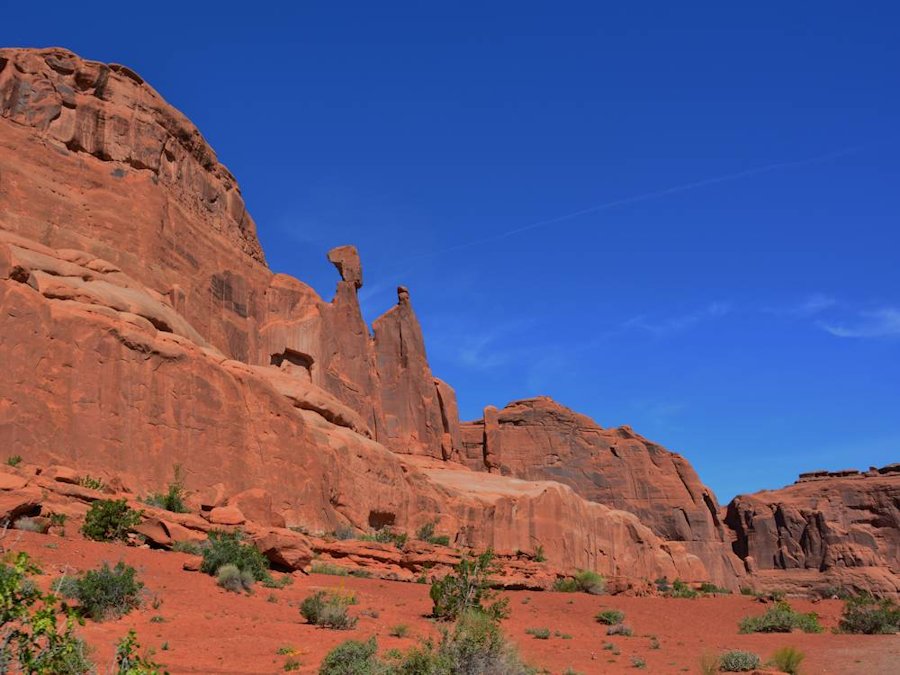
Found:
<path fill-rule="evenodd" d="M 129 628 L 141 644 L 156 650 L 155 658 L 172 673 L 279 673 L 288 658 L 279 648 L 295 650 L 302 662 L 298 672 L 314 673 L 322 657 L 339 642 L 378 637 L 379 647 L 405 649 L 417 637 L 436 633 L 426 618 L 431 603 L 428 586 L 374 579 L 324 575 L 295 576 L 292 585 L 270 590 L 257 586 L 253 595 L 226 592 L 213 578 L 182 570 L 186 556 L 179 553 L 100 544 L 27 532 L 9 532 L 2 542 L 7 550 L 24 550 L 41 564 L 47 580 L 84 571 L 107 560 L 125 560 L 139 571 L 148 600 L 140 611 L 105 623 L 88 622 L 83 637 L 95 648 L 100 672 L 112 662 L 113 645 Z M 298 607 L 316 588 L 342 588 L 357 594 L 352 613 L 360 617 L 356 629 L 333 631 L 304 623 Z M 826 632 L 819 635 L 740 635 L 738 621 L 761 614 L 765 606 L 752 598 L 729 596 L 679 600 L 627 598 L 584 594 L 510 592 L 512 616 L 504 630 L 520 647 L 525 659 L 552 673 L 566 668 L 585 673 L 637 671 L 632 657 L 646 661 L 648 673 L 697 673 L 704 652 L 745 649 L 764 659 L 776 648 L 792 645 L 806 654 L 804 674 L 900 673 L 900 636 L 836 635 L 842 603 L 792 601 L 800 611 L 820 614 Z M 158 599 L 154 608 L 153 599 Z M 625 612 L 633 637 L 607 637 L 605 626 L 594 621 L 602 608 Z M 363 612 L 377 612 L 367 616 Z M 151 618 L 162 617 L 161 622 Z M 157 620 L 158 621 L 158 620 Z M 397 624 L 407 624 L 411 637 L 390 637 Z M 571 635 L 538 640 L 528 628 L 546 627 Z M 656 636 L 659 648 L 651 647 Z M 612 643 L 619 654 L 603 648 Z M 164 647 L 165 645 L 165 647 Z"/>

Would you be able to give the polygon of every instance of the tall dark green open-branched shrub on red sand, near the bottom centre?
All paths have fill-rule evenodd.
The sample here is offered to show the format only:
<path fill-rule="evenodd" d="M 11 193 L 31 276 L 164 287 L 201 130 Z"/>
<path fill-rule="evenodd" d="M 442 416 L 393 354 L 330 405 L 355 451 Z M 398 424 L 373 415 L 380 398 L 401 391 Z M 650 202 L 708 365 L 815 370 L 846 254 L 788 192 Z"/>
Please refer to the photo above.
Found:
<path fill-rule="evenodd" d="M 497 592 L 490 587 L 490 577 L 497 571 L 490 550 L 460 560 L 453 572 L 431 584 L 432 615 L 443 620 L 454 620 L 469 611 L 494 619 L 509 616 L 509 601 L 497 599 Z"/>

